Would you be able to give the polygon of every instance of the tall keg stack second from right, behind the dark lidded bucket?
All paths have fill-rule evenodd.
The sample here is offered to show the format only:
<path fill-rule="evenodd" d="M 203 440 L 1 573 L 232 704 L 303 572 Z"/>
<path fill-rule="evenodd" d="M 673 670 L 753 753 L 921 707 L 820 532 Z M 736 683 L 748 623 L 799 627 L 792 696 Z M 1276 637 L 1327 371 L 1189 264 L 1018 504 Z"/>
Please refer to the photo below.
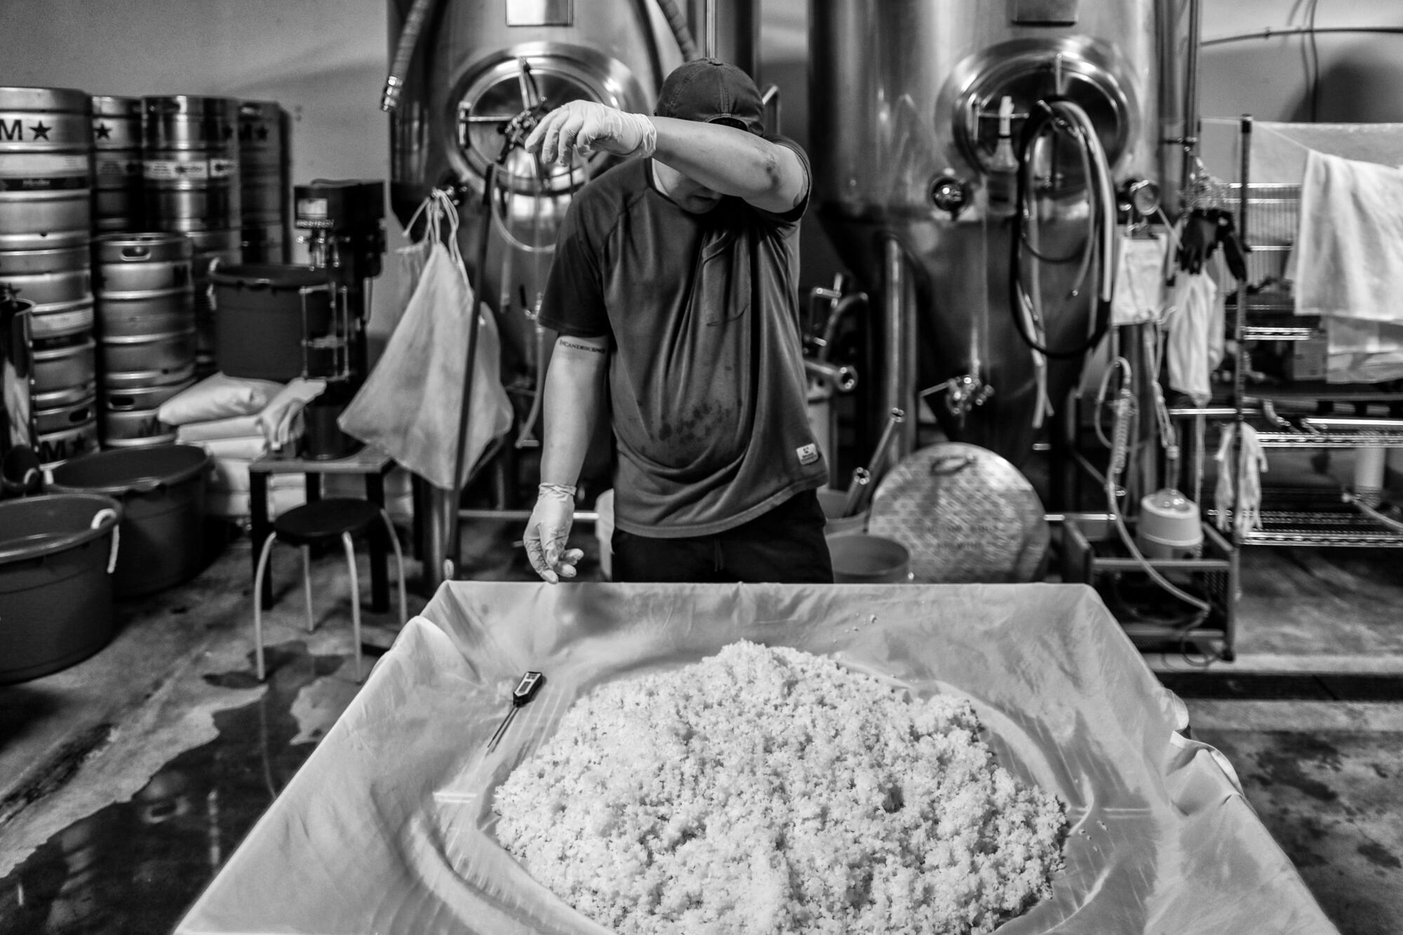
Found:
<path fill-rule="evenodd" d="M 194 365 L 208 376 L 216 369 L 209 270 L 243 258 L 239 101 L 142 98 L 142 174 L 147 229 L 185 234 L 194 247 Z"/>

